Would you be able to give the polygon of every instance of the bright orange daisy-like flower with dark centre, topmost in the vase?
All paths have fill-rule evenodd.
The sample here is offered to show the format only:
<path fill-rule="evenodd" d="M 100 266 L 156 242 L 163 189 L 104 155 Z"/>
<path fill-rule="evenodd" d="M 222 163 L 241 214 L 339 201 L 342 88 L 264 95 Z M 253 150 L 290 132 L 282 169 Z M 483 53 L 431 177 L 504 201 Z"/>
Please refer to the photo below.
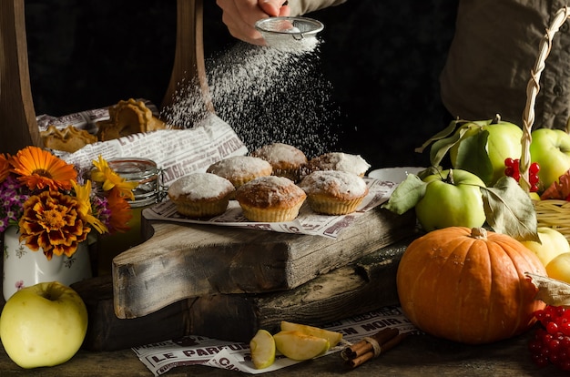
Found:
<path fill-rule="evenodd" d="M 77 178 L 73 165 L 42 148 L 21 149 L 9 162 L 29 189 L 71 189 L 71 180 Z"/>

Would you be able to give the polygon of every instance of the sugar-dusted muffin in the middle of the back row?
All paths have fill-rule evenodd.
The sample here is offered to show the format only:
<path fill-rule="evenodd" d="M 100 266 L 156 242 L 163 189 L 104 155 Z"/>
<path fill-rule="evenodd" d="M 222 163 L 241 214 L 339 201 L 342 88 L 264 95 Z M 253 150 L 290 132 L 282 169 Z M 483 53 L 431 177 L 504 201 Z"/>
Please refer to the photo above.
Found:
<path fill-rule="evenodd" d="M 300 179 L 300 169 L 307 164 L 307 156 L 289 144 L 273 143 L 250 153 L 250 156 L 263 158 L 271 164 L 273 175 L 290 178 L 293 182 Z"/>

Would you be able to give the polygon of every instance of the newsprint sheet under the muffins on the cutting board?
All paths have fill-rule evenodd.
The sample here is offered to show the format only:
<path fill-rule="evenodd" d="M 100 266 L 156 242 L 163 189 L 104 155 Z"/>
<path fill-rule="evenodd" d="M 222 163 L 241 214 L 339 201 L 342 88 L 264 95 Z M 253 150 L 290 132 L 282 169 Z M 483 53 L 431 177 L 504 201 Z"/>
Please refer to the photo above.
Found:
<path fill-rule="evenodd" d="M 299 211 L 299 216 L 289 222 L 252 222 L 243 217 L 239 203 L 229 200 L 226 212 L 207 220 L 188 219 L 177 212 L 176 205 L 170 200 L 159 203 L 143 211 L 145 219 L 163 221 L 185 222 L 195 224 L 209 224 L 225 227 L 237 227 L 244 229 L 270 230 L 282 233 L 309 234 L 336 239 L 342 229 L 346 229 L 364 212 L 371 210 L 390 198 L 396 184 L 374 178 L 364 178 L 368 185 L 368 195 L 362 200 L 361 205 L 348 215 L 325 216 L 313 212 L 308 203 L 304 203 Z"/>

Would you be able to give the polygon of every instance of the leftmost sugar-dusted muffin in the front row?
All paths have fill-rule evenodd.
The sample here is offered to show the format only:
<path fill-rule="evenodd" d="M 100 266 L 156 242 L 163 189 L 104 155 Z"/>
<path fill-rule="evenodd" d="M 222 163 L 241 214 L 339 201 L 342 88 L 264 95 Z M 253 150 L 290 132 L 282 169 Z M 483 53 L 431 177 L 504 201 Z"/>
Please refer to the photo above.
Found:
<path fill-rule="evenodd" d="M 193 173 L 174 181 L 168 188 L 168 198 L 182 215 L 208 218 L 226 211 L 234 191 L 233 184 L 226 178 L 211 173 Z"/>

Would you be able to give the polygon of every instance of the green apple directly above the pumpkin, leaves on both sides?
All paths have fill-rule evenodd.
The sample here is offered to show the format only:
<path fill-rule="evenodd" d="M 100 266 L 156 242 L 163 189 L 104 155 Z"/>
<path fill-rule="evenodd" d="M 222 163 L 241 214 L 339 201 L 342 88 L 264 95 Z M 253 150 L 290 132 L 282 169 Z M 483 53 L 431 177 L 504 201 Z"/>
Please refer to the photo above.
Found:
<path fill-rule="evenodd" d="M 486 217 L 481 188 L 485 184 L 481 178 L 465 170 L 449 169 L 423 181 L 427 187 L 415 205 L 415 213 L 425 231 L 483 226 Z"/>

